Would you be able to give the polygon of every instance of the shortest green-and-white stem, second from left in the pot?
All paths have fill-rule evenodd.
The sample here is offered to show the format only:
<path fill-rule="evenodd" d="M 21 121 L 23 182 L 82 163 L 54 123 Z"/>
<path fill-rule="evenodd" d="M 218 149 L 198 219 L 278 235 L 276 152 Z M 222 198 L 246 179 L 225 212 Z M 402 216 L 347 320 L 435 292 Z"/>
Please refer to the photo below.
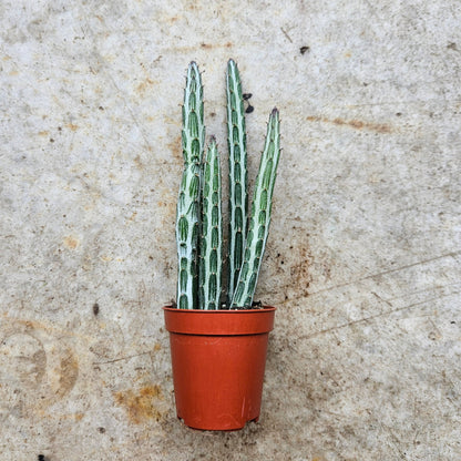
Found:
<path fill-rule="evenodd" d="M 223 263 L 219 153 L 214 137 L 202 170 L 202 237 L 198 272 L 201 309 L 218 309 Z"/>

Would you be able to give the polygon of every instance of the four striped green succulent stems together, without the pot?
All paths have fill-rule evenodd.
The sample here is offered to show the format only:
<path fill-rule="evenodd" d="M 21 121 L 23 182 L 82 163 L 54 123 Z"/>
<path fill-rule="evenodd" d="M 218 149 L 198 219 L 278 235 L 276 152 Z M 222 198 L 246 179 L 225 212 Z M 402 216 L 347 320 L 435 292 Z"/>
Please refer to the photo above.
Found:
<path fill-rule="evenodd" d="M 177 307 L 181 309 L 252 308 L 269 232 L 274 184 L 280 156 L 279 116 L 269 115 L 248 216 L 245 110 L 236 63 L 226 73 L 229 162 L 228 275 L 221 305 L 223 214 L 219 153 L 211 139 L 205 153 L 203 86 L 197 64 L 187 70 L 183 104 L 184 170 L 176 209 L 178 257 Z"/>

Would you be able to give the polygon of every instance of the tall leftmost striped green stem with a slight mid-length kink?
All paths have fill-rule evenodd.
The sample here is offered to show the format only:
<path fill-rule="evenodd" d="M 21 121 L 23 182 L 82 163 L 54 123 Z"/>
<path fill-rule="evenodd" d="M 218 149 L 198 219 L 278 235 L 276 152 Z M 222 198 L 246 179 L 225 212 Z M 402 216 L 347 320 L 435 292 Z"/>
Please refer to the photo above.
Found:
<path fill-rule="evenodd" d="M 201 158 L 205 143 L 203 86 L 197 64 L 191 62 L 184 90 L 182 147 L 183 177 L 176 208 L 177 306 L 197 306 L 197 245 L 201 199 Z"/>

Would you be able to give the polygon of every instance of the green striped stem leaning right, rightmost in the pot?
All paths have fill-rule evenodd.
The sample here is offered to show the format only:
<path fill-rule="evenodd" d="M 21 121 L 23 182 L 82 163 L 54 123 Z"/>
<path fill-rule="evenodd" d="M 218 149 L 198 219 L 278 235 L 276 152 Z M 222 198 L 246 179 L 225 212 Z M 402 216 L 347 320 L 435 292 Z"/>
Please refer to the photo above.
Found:
<path fill-rule="evenodd" d="M 266 142 L 252 203 L 252 217 L 246 238 L 244 262 L 232 299 L 232 307 L 250 307 L 253 304 L 260 263 L 269 233 L 274 184 L 279 156 L 279 116 L 277 109 L 274 109 L 267 125 Z"/>

